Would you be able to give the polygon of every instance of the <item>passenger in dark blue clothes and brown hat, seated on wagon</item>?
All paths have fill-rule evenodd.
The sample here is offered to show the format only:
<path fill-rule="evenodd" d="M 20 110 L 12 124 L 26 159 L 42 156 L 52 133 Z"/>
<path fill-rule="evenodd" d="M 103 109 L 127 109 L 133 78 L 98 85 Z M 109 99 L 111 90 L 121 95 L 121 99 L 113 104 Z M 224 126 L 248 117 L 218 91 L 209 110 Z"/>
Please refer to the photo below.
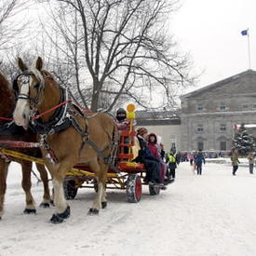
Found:
<path fill-rule="evenodd" d="M 146 128 L 138 128 L 137 129 L 137 138 L 140 142 L 140 151 L 139 155 L 134 159 L 135 162 L 139 162 L 145 165 L 146 168 L 146 177 L 144 182 L 159 184 L 160 187 L 166 188 L 160 181 L 160 174 L 157 160 L 150 152 L 149 147 L 147 145 L 147 133 L 148 130 Z"/>

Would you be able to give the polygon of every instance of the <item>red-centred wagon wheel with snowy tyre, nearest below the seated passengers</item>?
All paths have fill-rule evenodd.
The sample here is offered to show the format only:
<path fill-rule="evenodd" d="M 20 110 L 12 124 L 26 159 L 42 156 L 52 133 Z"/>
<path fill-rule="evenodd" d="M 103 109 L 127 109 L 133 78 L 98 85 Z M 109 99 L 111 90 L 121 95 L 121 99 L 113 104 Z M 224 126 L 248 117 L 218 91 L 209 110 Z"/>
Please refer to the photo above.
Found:
<path fill-rule="evenodd" d="M 129 174 L 127 180 L 128 202 L 137 203 L 141 200 L 141 177 L 138 174 Z"/>

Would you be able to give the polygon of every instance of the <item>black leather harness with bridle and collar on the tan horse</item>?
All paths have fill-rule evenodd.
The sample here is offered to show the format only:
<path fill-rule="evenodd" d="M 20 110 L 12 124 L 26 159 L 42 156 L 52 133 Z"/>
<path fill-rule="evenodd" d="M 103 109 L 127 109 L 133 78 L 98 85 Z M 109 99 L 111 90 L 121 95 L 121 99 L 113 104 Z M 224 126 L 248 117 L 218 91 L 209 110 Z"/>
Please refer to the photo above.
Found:
<path fill-rule="evenodd" d="M 19 91 L 17 80 L 20 75 L 24 75 L 25 77 L 23 78 L 23 76 L 21 76 L 22 82 L 29 83 L 29 76 L 31 76 L 32 74 L 34 73 L 23 72 L 22 74 L 19 74 L 13 83 L 14 90 L 16 90 L 17 92 Z M 44 88 L 44 85 L 40 85 L 38 87 L 38 93 L 35 98 L 31 98 L 29 95 L 20 94 L 17 96 L 17 99 L 28 100 L 32 101 L 34 104 L 37 104 L 40 98 L 42 88 Z M 103 150 L 100 150 L 99 147 L 89 139 L 88 119 L 95 117 L 96 115 L 98 115 L 98 113 L 96 113 L 95 115 L 86 116 L 85 113 L 77 105 L 72 103 L 71 100 L 68 100 L 68 90 L 66 88 L 62 88 L 60 86 L 60 91 L 61 102 L 63 102 L 63 104 L 60 104 L 61 106 L 56 109 L 53 116 L 47 123 L 42 122 L 42 118 L 40 118 L 42 114 L 38 115 L 38 112 L 34 112 L 34 114 L 32 115 L 31 128 L 33 128 L 34 132 L 40 135 L 40 145 L 47 151 L 47 158 L 52 164 L 56 164 L 58 162 L 57 156 L 54 154 L 53 150 L 50 148 L 47 142 L 47 137 L 49 135 L 73 126 L 74 129 L 83 138 L 81 149 L 83 148 L 85 143 L 88 143 L 97 153 L 97 155 L 99 155 L 104 160 L 105 164 L 109 164 L 112 168 L 115 169 L 114 165 L 111 165 L 110 163 L 110 158 L 112 154 L 107 156 L 104 155 L 104 151 L 106 151 L 109 147 L 111 147 L 112 152 L 113 147 L 115 147 L 115 143 L 113 142 L 111 146 L 107 145 Z M 77 115 L 80 115 L 80 117 L 85 119 L 85 130 L 81 128 L 81 126 L 76 121 L 75 116 Z"/>

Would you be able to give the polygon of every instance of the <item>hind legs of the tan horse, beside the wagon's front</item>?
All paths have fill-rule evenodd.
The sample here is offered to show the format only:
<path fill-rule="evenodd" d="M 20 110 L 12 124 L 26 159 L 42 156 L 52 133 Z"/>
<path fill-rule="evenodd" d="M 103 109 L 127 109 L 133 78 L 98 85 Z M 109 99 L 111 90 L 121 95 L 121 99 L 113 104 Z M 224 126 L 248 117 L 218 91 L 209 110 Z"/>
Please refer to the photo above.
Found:
<path fill-rule="evenodd" d="M 105 184 L 108 166 L 105 164 L 98 164 L 97 162 L 90 165 L 90 168 L 94 170 L 98 179 L 98 193 L 93 201 L 92 207 L 89 209 L 89 215 L 99 214 L 102 208 L 107 206 L 105 198 Z"/>

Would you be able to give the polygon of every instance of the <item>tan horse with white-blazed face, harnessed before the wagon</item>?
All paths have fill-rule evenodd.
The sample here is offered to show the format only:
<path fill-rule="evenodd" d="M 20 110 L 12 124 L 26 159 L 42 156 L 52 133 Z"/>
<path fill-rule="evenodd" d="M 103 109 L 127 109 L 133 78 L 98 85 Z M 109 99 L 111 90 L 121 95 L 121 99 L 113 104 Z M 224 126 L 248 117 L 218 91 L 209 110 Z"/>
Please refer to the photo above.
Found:
<path fill-rule="evenodd" d="M 54 185 L 54 203 L 57 212 L 51 222 L 62 222 L 70 215 L 63 193 L 65 173 L 74 165 L 82 163 L 94 171 L 98 179 L 98 193 L 88 214 L 95 215 L 107 206 L 105 183 L 109 159 L 117 140 L 115 120 L 104 114 L 85 115 L 67 101 L 65 90 L 61 89 L 53 76 L 42 70 L 43 61 L 39 57 L 35 69 L 28 70 L 19 59 L 22 74 L 18 75 L 14 88 L 19 91 L 14 111 L 15 123 L 26 128 L 32 115 L 38 128 L 42 153 L 47 163 Z M 54 106 L 58 109 L 53 111 Z M 34 117 L 33 117 L 34 116 Z"/>

